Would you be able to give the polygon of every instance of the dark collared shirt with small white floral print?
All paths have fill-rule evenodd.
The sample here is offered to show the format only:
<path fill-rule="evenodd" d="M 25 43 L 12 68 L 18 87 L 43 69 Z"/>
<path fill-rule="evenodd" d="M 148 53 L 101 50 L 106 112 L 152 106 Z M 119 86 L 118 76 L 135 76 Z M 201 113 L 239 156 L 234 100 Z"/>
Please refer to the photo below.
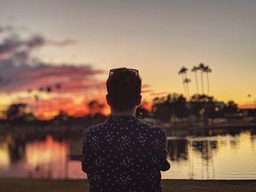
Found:
<path fill-rule="evenodd" d="M 90 192 L 162 191 L 161 171 L 170 169 L 164 129 L 134 116 L 110 115 L 83 137 L 82 169 Z"/>

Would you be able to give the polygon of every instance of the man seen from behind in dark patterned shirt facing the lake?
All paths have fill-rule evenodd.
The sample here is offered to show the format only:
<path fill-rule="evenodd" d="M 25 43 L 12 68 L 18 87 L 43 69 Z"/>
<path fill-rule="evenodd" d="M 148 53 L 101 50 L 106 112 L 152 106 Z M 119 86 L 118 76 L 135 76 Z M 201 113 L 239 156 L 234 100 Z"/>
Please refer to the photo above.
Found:
<path fill-rule="evenodd" d="M 107 89 L 111 115 L 83 137 L 82 169 L 90 191 L 162 191 L 160 170 L 170 169 L 166 132 L 135 118 L 141 100 L 138 70 L 111 69 Z"/>

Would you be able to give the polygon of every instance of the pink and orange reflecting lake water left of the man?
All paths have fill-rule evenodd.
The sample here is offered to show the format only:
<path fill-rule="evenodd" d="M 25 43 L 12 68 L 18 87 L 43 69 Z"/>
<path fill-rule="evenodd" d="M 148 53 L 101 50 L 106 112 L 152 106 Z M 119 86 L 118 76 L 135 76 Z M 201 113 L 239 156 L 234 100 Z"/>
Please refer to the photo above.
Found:
<path fill-rule="evenodd" d="M 69 161 L 67 140 L 53 136 L 24 142 L 8 135 L 0 143 L 0 177 L 80 178 L 79 161 Z"/>

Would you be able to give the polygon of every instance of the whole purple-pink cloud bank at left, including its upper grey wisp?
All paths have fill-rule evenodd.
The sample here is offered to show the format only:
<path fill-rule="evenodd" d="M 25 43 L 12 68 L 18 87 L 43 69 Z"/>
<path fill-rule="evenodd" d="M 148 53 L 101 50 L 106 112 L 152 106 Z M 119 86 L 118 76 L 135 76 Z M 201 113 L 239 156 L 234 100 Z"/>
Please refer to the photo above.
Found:
<path fill-rule="evenodd" d="M 0 30 L 4 30 L 0 27 Z M 31 52 L 44 45 L 65 46 L 75 43 L 72 39 L 61 41 L 48 40 L 42 35 L 21 39 L 18 34 L 10 33 L 0 42 L 0 92 L 18 92 L 28 89 L 50 88 L 60 84 L 65 93 L 89 91 L 102 88 L 97 74 L 102 70 L 94 69 L 91 64 L 53 65 L 31 58 Z"/>

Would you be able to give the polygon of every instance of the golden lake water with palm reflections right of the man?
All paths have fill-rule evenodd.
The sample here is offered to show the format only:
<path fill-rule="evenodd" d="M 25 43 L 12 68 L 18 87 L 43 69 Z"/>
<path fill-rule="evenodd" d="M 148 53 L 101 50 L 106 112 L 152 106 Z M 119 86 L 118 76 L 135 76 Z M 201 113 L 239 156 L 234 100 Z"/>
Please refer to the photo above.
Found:
<path fill-rule="evenodd" d="M 256 179 L 256 139 L 250 131 L 235 136 L 186 137 L 168 142 L 171 169 L 163 178 Z"/>

